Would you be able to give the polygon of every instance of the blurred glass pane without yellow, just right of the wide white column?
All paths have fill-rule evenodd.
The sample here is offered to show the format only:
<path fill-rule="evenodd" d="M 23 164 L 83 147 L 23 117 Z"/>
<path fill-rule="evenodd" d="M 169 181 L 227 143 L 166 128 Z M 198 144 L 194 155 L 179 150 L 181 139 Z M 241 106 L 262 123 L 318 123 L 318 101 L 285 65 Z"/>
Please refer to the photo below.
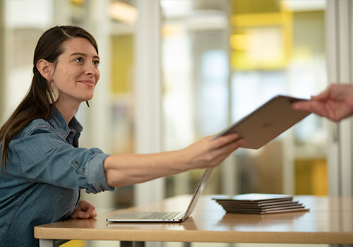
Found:
<path fill-rule="evenodd" d="M 163 145 L 174 150 L 229 123 L 229 1 L 160 2 Z M 202 172 L 167 178 L 167 197 L 193 193 Z M 213 171 L 206 190 L 217 191 L 219 174 Z"/>

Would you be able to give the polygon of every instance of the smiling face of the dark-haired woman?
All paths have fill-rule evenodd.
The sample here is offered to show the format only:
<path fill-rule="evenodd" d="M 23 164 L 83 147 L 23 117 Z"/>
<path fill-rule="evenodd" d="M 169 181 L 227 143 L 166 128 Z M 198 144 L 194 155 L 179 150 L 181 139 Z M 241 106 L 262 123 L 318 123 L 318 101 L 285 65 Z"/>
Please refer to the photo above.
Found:
<path fill-rule="evenodd" d="M 56 104 L 80 104 L 91 100 L 100 79 L 100 57 L 95 47 L 84 38 L 64 43 L 64 53 L 54 68 L 52 83 L 59 90 Z"/>

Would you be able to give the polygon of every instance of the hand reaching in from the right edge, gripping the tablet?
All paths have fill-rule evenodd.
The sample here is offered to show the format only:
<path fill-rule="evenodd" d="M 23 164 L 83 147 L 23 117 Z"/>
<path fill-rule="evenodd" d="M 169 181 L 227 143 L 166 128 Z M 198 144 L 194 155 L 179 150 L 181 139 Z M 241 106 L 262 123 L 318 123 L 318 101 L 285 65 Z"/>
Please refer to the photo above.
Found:
<path fill-rule="evenodd" d="M 353 85 L 332 84 L 320 95 L 311 97 L 311 101 L 294 102 L 292 107 L 340 121 L 353 114 Z"/>

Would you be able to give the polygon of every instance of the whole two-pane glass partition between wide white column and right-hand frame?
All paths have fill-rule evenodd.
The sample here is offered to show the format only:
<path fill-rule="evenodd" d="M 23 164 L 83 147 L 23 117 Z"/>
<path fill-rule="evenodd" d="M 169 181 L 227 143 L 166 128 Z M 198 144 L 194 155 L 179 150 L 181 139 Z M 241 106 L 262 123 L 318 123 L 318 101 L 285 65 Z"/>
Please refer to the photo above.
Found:
<path fill-rule="evenodd" d="M 220 132 L 275 95 L 309 98 L 327 85 L 325 1 L 161 6 L 166 150 Z M 327 194 L 326 132 L 309 116 L 259 150 L 238 150 L 205 193 Z M 169 177 L 167 196 L 192 193 L 201 173 Z"/>

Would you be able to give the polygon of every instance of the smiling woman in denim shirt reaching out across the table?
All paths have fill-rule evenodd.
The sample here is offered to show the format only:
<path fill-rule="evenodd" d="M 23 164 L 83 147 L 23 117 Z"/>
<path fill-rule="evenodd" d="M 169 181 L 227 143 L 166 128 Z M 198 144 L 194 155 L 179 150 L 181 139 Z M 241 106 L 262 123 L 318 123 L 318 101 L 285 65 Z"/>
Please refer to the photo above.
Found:
<path fill-rule="evenodd" d="M 33 227 L 68 218 L 95 217 L 79 200 L 177 174 L 216 167 L 244 143 L 237 134 L 203 138 L 189 147 L 149 155 L 108 155 L 78 147 L 81 102 L 100 78 L 95 39 L 85 30 L 57 26 L 44 32 L 34 54 L 28 94 L 0 129 L 0 246 L 37 246 Z"/>

